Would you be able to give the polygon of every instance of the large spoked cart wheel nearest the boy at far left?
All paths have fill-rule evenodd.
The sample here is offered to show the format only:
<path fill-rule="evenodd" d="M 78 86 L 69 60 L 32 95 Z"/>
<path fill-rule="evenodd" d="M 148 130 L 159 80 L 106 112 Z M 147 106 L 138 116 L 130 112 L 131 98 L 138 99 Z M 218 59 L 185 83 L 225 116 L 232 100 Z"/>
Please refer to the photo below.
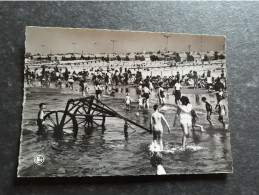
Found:
<path fill-rule="evenodd" d="M 50 130 L 54 131 L 54 136 L 61 138 L 63 133 L 73 134 L 77 136 L 78 125 L 76 118 L 65 111 L 52 111 L 45 115 L 45 124 Z"/>

